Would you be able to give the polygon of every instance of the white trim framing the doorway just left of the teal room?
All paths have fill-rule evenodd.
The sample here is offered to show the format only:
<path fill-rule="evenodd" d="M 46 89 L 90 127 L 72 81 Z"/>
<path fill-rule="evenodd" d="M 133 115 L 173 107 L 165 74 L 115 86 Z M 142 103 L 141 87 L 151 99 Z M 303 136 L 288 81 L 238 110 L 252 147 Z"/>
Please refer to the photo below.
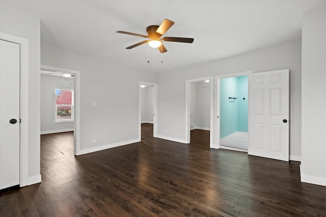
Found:
<path fill-rule="evenodd" d="M 190 85 L 193 82 L 205 81 L 209 80 L 210 82 L 210 129 L 213 129 L 213 120 L 214 120 L 214 82 L 213 77 L 205 77 L 205 78 L 196 78 L 189 79 L 185 81 L 185 143 L 190 143 Z M 195 128 L 196 129 L 196 128 Z M 213 132 L 209 133 L 209 147 L 212 147 L 213 144 Z M 168 139 L 169 140 L 169 139 Z M 183 142 L 182 142 L 183 143 Z"/>

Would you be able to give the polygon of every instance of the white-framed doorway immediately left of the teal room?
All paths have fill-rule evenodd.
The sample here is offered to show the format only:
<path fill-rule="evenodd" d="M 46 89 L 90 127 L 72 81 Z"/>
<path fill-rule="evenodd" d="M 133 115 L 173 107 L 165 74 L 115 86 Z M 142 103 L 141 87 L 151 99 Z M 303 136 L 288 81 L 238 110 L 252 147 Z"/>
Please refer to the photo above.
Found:
<path fill-rule="evenodd" d="M 186 143 L 192 130 L 209 131 L 209 146 L 213 140 L 213 77 L 186 80 Z"/>

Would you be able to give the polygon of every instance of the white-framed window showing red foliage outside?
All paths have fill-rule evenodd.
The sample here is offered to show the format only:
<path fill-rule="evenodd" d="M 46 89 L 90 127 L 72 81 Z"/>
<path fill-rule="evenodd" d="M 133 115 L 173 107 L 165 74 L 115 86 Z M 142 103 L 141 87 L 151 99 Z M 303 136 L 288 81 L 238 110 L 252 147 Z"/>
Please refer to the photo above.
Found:
<path fill-rule="evenodd" d="M 73 90 L 56 89 L 55 122 L 73 121 Z"/>

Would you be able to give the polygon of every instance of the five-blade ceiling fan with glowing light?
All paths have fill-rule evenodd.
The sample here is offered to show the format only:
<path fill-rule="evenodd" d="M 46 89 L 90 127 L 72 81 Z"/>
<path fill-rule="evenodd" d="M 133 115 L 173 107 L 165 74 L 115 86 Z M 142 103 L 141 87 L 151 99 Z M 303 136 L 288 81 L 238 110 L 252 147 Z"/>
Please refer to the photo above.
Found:
<path fill-rule="evenodd" d="M 117 33 L 122 33 L 122 34 L 127 34 L 127 35 L 132 35 L 132 36 L 140 36 L 143 38 L 149 38 L 149 40 L 139 42 L 137 44 L 131 45 L 129 47 L 126 47 L 126 49 L 131 49 L 137 46 L 140 46 L 142 44 L 148 43 L 149 46 L 153 48 L 158 48 L 159 52 L 165 53 L 168 50 L 165 48 L 163 45 L 162 41 L 166 42 L 183 42 L 183 43 L 193 43 L 194 39 L 193 38 L 178 38 L 178 37 L 164 37 L 160 38 L 162 35 L 164 35 L 167 30 L 174 24 L 173 21 L 165 19 L 163 22 L 158 26 L 158 25 L 150 25 L 146 28 L 146 32 L 148 36 L 146 35 L 141 35 L 141 34 L 136 34 L 136 33 L 128 33 L 124 31 L 117 31 Z"/>

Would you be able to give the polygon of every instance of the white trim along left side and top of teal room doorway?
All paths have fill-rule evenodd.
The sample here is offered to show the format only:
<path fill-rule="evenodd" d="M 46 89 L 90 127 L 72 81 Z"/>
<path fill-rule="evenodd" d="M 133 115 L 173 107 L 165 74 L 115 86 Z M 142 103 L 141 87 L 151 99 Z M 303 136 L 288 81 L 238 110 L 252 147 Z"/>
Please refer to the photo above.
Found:
<path fill-rule="evenodd" d="M 222 78 L 231 78 L 231 77 L 238 77 L 238 76 L 243 76 L 243 75 L 250 75 L 252 74 L 252 71 L 245 71 L 245 72 L 239 72 L 239 73 L 232 73 L 232 74 L 224 74 L 224 75 L 219 75 L 215 76 L 215 143 L 220 144 L 220 79 Z"/>

